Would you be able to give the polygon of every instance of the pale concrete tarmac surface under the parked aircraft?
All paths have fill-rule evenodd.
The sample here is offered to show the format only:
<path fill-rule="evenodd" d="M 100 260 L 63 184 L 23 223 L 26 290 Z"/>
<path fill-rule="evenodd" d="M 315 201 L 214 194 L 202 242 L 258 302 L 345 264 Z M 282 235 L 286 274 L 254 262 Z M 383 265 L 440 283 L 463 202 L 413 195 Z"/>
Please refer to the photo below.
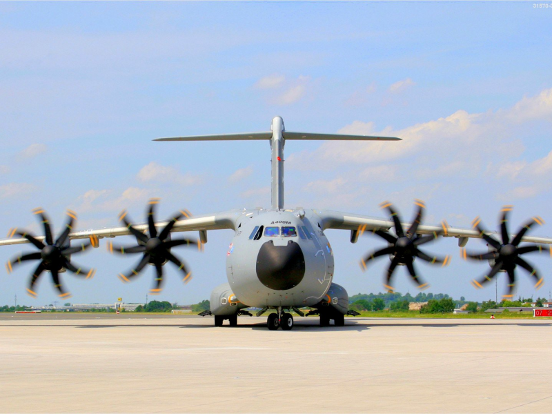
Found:
<path fill-rule="evenodd" d="M 552 322 L 0 314 L 2 413 L 551 413 Z"/>

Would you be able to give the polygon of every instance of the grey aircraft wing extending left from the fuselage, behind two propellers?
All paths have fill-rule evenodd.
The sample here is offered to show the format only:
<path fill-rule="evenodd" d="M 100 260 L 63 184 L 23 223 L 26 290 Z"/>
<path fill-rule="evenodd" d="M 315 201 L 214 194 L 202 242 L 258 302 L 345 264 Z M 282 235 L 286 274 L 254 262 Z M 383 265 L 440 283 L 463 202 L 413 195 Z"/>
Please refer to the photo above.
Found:
<path fill-rule="evenodd" d="M 208 215 L 191 216 L 186 219 L 179 220 L 175 223 L 171 233 L 183 232 L 183 231 L 206 231 L 206 230 L 221 230 L 221 229 L 235 229 L 235 219 L 242 215 L 244 210 L 228 210 L 222 213 L 213 213 Z M 157 228 L 164 228 L 168 224 L 168 221 L 156 221 L 155 226 Z M 133 224 L 133 227 L 139 231 L 146 231 L 148 224 Z M 14 234 L 17 229 L 10 229 L 10 234 Z M 21 229 L 19 229 L 21 230 Z M 103 239 L 103 237 L 118 237 L 130 235 L 130 231 L 126 226 L 99 228 L 79 230 L 69 234 L 69 239 Z M 8 234 L 9 236 L 9 234 Z M 37 236 L 39 240 L 43 240 L 44 236 Z M 206 240 L 205 240 L 206 241 Z M 202 242 L 205 242 L 202 240 Z M 0 239 L 0 246 L 6 246 L 9 244 L 23 244 L 28 243 L 28 239 L 23 237 Z"/>

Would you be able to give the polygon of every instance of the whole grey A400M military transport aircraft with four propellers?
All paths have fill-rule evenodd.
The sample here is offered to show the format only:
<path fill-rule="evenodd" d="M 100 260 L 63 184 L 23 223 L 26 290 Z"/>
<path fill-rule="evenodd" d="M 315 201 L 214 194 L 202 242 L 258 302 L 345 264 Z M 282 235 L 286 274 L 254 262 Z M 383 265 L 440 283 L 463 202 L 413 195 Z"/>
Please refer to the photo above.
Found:
<path fill-rule="evenodd" d="M 192 217 L 182 210 L 168 221 L 155 221 L 155 206 L 158 199 L 150 200 L 146 224 L 131 224 L 126 212 L 121 213 L 119 220 L 122 226 L 102 228 L 99 230 L 73 231 L 75 212 L 68 211 L 68 222 L 65 230 L 54 239 L 50 230 L 48 217 L 42 209 L 34 214 L 43 223 L 45 235 L 35 237 L 25 230 L 13 228 L 8 239 L 0 240 L 0 245 L 31 243 L 37 250 L 14 257 L 6 264 L 8 272 L 14 266 L 25 261 L 37 260 L 39 264 L 32 274 L 28 293 L 36 297 L 35 284 L 41 274 L 51 274 L 55 288 L 60 297 L 68 297 L 63 289 L 59 274 L 68 270 L 75 275 L 90 279 L 95 270 L 85 269 L 72 262 L 72 255 L 86 250 L 89 246 L 97 247 L 99 239 L 132 235 L 136 238 L 135 246 L 117 246 L 108 242 L 108 250 L 123 255 L 141 255 L 139 263 L 128 273 L 119 274 L 124 282 L 129 282 L 139 275 L 147 264 L 155 266 L 155 285 L 151 293 L 159 293 L 163 282 L 163 266 L 171 262 L 178 267 L 184 282 L 189 282 L 191 275 L 184 264 L 172 252 L 177 246 L 194 246 L 200 250 L 207 242 L 207 232 L 218 229 L 231 229 L 235 235 L 226 256 L 226 275 L 228 283 L 218 286 L 210 296 L 210 311 L 215 317 L 215 326 L 221 326 L 228 319 L 231 326 L 237 324 L 238 315 L 248 313 L 244 308 L 260 308 L 257 316 L 269 310 L 276 313 L 268 315 L 267 326 L 275 330 L 293 328 L 291 310 L 304 316 L 302 308 L 313 308 L 309 315 L 319 315 L 320 324 L 327 326 L 333 320 L 335 326 L 344 324 L 344 315 L 351 313 L 348 309 L 346 290 L 333 283 L 333 251 L 324 230 L 335 228 L 351 232 L 351 243 L 356 243 L 363 234 L 376 235 L 386 243 L 385 247 L 362 258 L 361 266 L 366 266 L 377 257 L 388 256 L 388 266 L 384 286 L 393 290 L 392 279 L 397 266 L 406 266 L 418 288 L 428 286 L 420 279 L 414 267 L 414 260 L 421 259 L 428 264 L 446 266 L 451 257 L 437 257 L 426 253 L 424 244 L 438 237 L 456 237 L 458 245 L 464 247 L 470 237 L 484 239 L 489 248 L 484 253 L 468 253 L 461 250 L 464 259 L 487 260 L 491 270 L 480 280 L 473 280 L 473 286 L 481 288 L 499 272 L 509 276 L 508 291 L 504 297 L 512 297 L 515 286 L 515 267 L 520 266 L 535 280 L 535 287 L 540 288 L 543 279 L 537 270 L 521 255 L 542 251 L 542 244 L 552 244 L 552 239 L 528 237 L 526 232 L 534 224 L 543 224 L 540 217 L 529 220 L 516 235 L 511 237 L 507 228 L 507 216 L 511 206 L 502 210 L 499 241 L 493 233 L 483 230 L 480 219 L 473 221 L 472 229 L 452 228 L 446 222 L 439 226 L 422 224 L 425 205 L 416 200 L 416 214 L 411 223 L 403 223 L 392 204 L 382 204 L 391 219 L 377 219 L 364 215 L 339 213 L 337 211 L 317 209 L 284 208 L 284 144 L 293 139 L 333 139 L 363 141 L 400 141 L 393 137 L 368 137 L 353 135 L 328 135 L 305 132 L 288 132 L 281 117 L 275 117 L 270 131 L 251 132 L 228 135 L 203 135 L 196 137 L 161 138 L 155 141 L 226 141 L 226 140 L 266 140 L 272 150 L 272 206 L 255 210 L 228 210 L 222 213 Z M 393 143 L 389 145 L 400 145 Z M 393 231 L 391 232 L 391 229 Z M 173 233 L 198 231 L 199 240 L 175 238 Z M 17 236 L 17 237 L 16 237 Z M 85 240 L 78 244 L 79 239 Z M 520 246 L 522 242 L 529 242 Z M 422 248 L 422 246 L 424 248 Z M 552 254 L 552 250 L 551 250 Z M 204 313 L 205 314 L 205 313 Z"/>

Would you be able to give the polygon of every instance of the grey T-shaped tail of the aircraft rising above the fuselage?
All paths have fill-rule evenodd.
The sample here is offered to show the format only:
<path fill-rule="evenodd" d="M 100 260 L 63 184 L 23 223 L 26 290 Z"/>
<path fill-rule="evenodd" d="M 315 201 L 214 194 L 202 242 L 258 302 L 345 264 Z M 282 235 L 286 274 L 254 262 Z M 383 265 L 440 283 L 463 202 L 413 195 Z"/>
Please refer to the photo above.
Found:
<path fill-rule="evenodd" d="M 316 134 L 311 132 L 288 132 L 284 119 L 274 117 L 267 132 L 244 132 L 240 134 L 196 135 L 192 137 L 157 138 L 154 141 L 255 141 L 269 140 L 272 150 L 270 161 L 271 197 L 274 210 L 284 209 L 284 144 L 287 139 L 332 140 L 332 141 L 400 141 L 395 137 L 373 137 L 368 135 Z"/>

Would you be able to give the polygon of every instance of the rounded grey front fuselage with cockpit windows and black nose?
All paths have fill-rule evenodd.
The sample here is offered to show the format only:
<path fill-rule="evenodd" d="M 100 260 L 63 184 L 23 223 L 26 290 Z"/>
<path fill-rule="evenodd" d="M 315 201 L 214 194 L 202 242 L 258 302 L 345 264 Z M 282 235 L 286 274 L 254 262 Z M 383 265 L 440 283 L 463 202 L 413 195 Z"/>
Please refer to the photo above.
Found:
<path fill-rule="evenodd" d="M 313 210 L 247 210 L 236 219 L 226 275 L 246 306 L 313 306 L 333 278 L 333 252 Z"/>

